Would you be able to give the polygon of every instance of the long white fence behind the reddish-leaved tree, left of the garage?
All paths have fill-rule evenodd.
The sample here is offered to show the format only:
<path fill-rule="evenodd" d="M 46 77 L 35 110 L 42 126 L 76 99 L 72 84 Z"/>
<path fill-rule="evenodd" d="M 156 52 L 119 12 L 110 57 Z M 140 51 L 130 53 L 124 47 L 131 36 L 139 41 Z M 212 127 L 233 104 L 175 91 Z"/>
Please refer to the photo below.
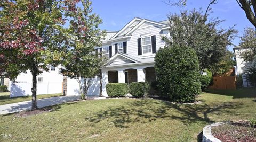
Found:
<path fill-rule="evenodd" d="M 10 97 L 32 95 L 31 82 L 18 82 L 10 84 Z M 37 83 L 37 95 L 62 93 L 62 82 Z"/>

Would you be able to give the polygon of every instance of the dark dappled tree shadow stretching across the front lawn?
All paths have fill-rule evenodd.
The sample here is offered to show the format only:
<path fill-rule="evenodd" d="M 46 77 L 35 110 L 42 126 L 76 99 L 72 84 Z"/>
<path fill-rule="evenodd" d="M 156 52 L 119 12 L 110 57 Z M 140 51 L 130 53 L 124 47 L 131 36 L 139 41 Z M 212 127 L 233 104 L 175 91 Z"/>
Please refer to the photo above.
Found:
<path fill-rule="evenodd" d="M 113 106 L 107 110 L 96 112 L 85 120 L 91 122 L 94 126 L 107 119 L 115 127 L 127 128 L 131 123 L 147 123 L 161 118 L 175 119 L 185 124 L 197 123 L 199 121 L 213 123 L 209 118 L 210 113 L 231 113 L 233 109 L 239 107 L 242 103 L 228 102 L 213 104 L 206 103 L 197 105 L 181 105 L 156 100 L 138 100 L 127 102 L 124 106 Z M 230 109 L 230 110 L 228 110 Z"/>

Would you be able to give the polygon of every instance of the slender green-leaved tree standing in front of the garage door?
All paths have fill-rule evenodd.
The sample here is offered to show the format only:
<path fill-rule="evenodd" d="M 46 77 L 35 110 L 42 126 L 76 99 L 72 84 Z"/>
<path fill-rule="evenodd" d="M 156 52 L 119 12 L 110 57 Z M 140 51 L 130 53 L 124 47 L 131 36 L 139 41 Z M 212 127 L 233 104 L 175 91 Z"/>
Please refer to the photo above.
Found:
<path fill-rule="evenodd" d="M 93 54 L 94 47 L 101 46 L 101 39 L 105 31 L 98 28 L 102 23 L 99 15 L 92 14 L 91 2 L 82 0 L 82 8 L 67 11 L 65 15 L 72 17 L 69 28 L 65 32 L 69 35 L 66 39 L 66 54 L 63 57 L 62 73 L 76 78 L 79 84 L 79 92 L 82 99 L 86 99 L 87 92 L 104 59 L 101 54 Z"/>

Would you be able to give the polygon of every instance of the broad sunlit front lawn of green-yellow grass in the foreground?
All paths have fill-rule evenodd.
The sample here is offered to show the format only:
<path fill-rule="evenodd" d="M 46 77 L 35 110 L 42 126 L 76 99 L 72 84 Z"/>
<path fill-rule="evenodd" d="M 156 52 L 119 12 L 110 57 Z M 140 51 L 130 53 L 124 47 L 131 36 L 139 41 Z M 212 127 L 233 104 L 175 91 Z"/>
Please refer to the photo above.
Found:
<path fill-rule="evenodd" d="M 232 91 L 202 93 L 197 105 L 106 99 L 55 105 L 27 117 L 9 114 L 0 116 L 0 134 L 11 138 L 0 141 L 198 141 L 209 123 L 256 118 L 256 95 L 246 97 L 247 91 L 236 97 Z"/>

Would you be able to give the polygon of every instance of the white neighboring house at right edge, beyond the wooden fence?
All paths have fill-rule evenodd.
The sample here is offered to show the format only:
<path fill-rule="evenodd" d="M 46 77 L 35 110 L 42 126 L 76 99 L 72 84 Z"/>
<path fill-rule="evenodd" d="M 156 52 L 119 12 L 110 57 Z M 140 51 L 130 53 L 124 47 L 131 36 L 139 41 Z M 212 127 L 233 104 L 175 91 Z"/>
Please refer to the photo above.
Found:
<path fill-rule="evenodd" d="M 244 71 L 246 70 L 246 67 L 250 66 L 251 64 L 246 63 L 243 58 L 241 58 L 241 52 L 244 52 L 246 50 L 250 50 L 250 48 L 233 48 L 236 56 L 236 64 L 235 72 L 236 75 L 242 75 L 243 78 L 243 87 L 253 87 L 251 82 L 247 79 L 246 74 L 244 74 Z"/>

